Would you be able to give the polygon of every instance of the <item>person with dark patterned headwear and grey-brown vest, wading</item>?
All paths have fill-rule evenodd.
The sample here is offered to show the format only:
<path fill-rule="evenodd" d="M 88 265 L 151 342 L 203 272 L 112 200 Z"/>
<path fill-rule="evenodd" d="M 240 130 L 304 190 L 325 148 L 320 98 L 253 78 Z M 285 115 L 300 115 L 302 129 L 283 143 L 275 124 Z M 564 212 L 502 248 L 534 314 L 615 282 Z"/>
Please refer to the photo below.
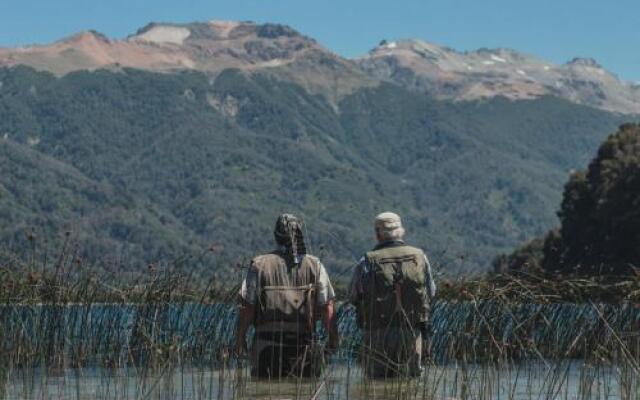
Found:
<path fill-rule="evenodd" d="M 242 282 L 235 352 L 246 352 L 246 333 L 253 324 L 253 376 L 318 376 L 316 320 L 322 319 L 329 334 L 328 349 L 338 343 L 333 287 L 320 260 L 307 254 L 300 219 L 280 215 L 274 236 L 276 250 L 255 257 Z"/>

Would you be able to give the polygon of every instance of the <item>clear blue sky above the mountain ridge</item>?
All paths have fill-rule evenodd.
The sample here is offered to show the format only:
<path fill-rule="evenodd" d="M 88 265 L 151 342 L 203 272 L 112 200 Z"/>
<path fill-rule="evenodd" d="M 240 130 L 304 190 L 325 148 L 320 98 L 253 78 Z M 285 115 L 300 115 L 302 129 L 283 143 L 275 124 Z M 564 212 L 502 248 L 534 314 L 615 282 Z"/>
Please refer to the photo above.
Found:
<path fill-rule="evenodd" d="M 593 57 L 640 81 L 640 0 L 0 0 L 0 46 L 95 29 L 122 38 L 148 22 L 280 22 L 355 57 L 381 39 L 458 50 L 510 47 L 556 63 Z"/>

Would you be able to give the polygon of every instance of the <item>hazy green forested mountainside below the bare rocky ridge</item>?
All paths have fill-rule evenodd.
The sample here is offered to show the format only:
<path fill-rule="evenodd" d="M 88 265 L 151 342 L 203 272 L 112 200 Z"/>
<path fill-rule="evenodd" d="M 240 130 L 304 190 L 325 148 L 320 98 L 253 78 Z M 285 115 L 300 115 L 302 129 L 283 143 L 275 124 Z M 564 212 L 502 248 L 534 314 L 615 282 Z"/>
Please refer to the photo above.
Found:
<path fill-rule="evenodd" d="M 390 209 L 441 270 L 484 271 L 557 224 L 568 172 L 622 122 L 553 97 L 450 103 L 381 84 L 336 105 L 235 70 L 0 69 L 3 257 L 69 241 L 102 267 L 191 257 L 223 274 L 290 211 L 338 271 Z"/>

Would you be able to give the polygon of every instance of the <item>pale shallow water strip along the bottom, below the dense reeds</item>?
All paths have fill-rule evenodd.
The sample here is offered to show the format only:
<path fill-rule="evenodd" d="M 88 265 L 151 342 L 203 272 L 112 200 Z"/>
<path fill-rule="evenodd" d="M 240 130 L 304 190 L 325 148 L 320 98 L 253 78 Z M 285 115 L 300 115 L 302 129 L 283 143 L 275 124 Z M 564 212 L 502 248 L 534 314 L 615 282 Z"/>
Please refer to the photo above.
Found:
<path fill-rule="evenodd" d="M 579 361 L 430 366 L 420 379 L 371 381 L 339 363 L 319 379 L 255 380 L 237 365 L 156 371 L 12 371 L 7 399 L 636 399 L 637 374 Z M 630 397 L 628 397 L 630 396 Z"/>

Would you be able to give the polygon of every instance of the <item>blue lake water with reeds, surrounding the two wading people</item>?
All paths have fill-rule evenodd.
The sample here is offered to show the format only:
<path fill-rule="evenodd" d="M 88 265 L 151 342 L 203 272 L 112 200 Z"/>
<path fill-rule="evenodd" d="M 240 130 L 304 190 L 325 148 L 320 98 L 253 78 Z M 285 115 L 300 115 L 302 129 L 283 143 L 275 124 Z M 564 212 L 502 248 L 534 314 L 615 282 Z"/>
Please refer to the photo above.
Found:
<path fill-rule="evenodd" d="M 437 302 L 437 365 L 411 381 L 363 378 L 347 306 L 321 379 L 253 380 L 246 365 L 224 362 L 236 315 L 225 304 L 0 306 L 0 397 L 640 400 L 640 309 L 631 305 Z M 548 361 L 558 357 L 574 360 Z M 500 367 L 486 362 L 496 358 Z"/>

